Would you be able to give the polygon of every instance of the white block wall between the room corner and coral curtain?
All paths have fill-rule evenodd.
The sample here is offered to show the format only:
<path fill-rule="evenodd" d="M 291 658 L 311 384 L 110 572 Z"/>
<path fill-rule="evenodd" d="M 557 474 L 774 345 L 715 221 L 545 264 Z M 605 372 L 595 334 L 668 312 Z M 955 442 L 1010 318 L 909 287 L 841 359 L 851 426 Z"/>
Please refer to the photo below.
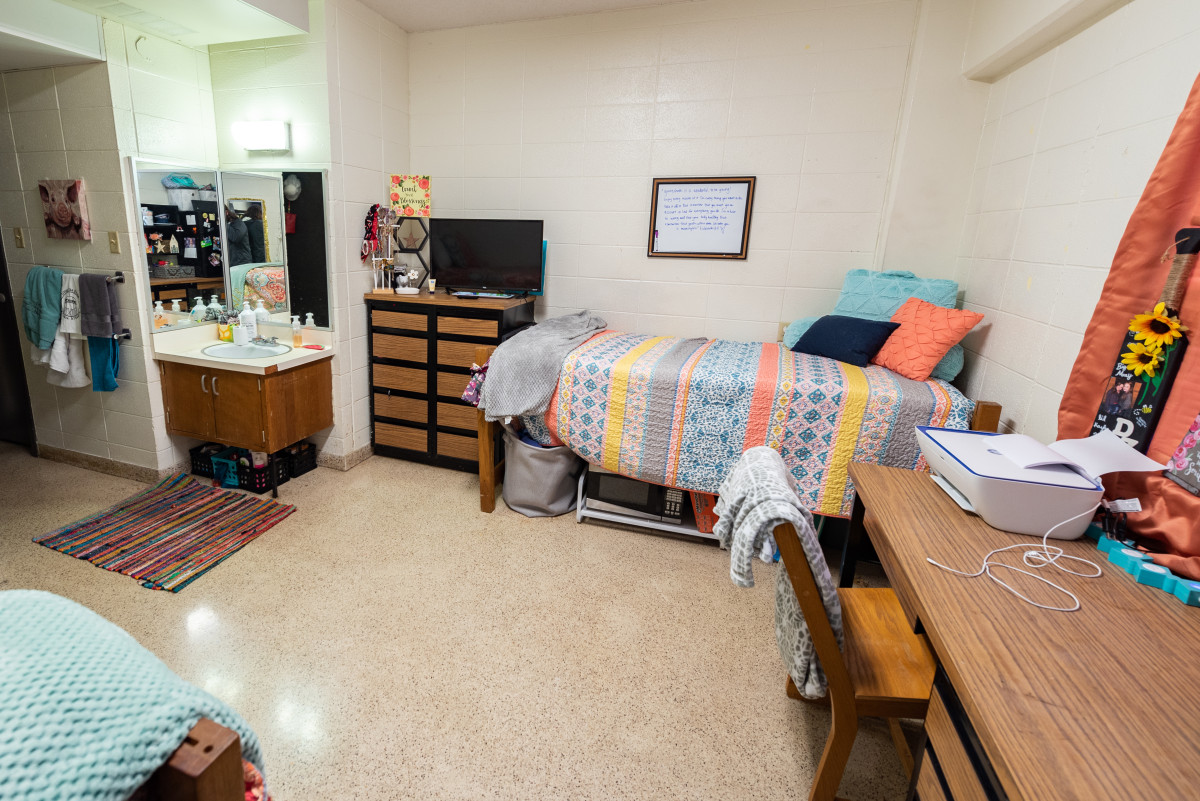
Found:
<path fill-rule="evenodd" d="M 1200 4 L 1134 0 L 996 83 L 959 281 L 986 314 L 960 384 L 1054 441 L 1082 332 L 1200 72 Z"/>

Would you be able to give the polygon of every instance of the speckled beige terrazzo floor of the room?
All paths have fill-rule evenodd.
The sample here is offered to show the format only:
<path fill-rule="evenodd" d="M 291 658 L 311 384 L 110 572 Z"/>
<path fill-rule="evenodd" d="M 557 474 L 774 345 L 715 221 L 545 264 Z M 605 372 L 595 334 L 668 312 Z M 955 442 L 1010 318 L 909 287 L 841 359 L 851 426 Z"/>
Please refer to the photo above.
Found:
<path fill-rule="evenodd" d="M 0 590 L 66 596 L 222 698 L 278 801 L 804 799 L 829 733 L 787 698 L 773 566 L 695 541 L 478 506 L 478 480 L 373 457 L 180 594 L 30 538 L 144 488 L 0 445 Z M 868 573 L 860 568 L 860 573 Z M 864 719 L 840 795 L 904 797 Z"/>

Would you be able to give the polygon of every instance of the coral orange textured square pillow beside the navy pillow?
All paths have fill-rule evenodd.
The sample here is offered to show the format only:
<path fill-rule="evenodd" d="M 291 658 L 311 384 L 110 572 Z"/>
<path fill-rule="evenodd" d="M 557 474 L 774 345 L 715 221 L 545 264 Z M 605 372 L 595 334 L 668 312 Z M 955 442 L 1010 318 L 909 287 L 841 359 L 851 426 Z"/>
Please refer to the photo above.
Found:
<path fill-rule="evenodd" d="M 914 381 L 928 380 L 942 356 L 982 319 L 983 314 L 978 312 L 942 308 L 919 297 L 910 297 L 892 315 L 892 321 L 899 323 L 900 327 L 888 337 L 871 363 Z"/>

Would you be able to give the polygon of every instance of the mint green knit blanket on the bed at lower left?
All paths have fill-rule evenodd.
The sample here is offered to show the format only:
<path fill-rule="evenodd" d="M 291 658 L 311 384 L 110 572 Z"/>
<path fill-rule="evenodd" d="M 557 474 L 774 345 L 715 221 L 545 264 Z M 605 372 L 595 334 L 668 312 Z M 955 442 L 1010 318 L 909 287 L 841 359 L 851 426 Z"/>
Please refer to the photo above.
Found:
<path fill-rule="evenodd" d="M 0 801 L 124 801 L 202 717 L 263 770 L 241 716 L 124 630 L 50 592 L 0 592 Z"/>

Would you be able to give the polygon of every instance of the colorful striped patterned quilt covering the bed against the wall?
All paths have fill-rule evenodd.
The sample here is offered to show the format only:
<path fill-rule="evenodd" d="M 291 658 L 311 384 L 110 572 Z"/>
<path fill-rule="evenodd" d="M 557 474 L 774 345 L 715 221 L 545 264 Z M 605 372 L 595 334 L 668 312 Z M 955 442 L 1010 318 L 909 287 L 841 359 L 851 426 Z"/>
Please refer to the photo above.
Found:
<path fill-rule="evenodd" d="M 808 508 L 848 517 L 850 463 L 925 469 L 916 426 L 967 428 L 974 403 L 940 380 L 912 381 L 776 343 L 604 331 L 570 353 L 545 418 L 544 445 L 680 489 L 715 493 L 742 452 L 784 457 Z"/>

